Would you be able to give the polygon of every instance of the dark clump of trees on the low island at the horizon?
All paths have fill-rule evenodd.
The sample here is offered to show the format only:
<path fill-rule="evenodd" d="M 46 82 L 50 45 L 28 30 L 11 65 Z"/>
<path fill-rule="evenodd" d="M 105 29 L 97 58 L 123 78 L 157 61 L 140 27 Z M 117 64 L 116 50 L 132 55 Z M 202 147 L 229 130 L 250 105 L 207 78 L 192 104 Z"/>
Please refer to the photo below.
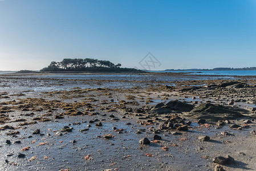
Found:
<path fill-rule="evenodd" d="M 85 59 L 63 59 L 62 62 L 54 62 L 43 68 L 43 72 L 64 72 L 64 71 L 87 71 L 87 72 L 143 72 L 134 68 L 120 68 L 121 64 L 113 64 L 108 60 Z"/>

